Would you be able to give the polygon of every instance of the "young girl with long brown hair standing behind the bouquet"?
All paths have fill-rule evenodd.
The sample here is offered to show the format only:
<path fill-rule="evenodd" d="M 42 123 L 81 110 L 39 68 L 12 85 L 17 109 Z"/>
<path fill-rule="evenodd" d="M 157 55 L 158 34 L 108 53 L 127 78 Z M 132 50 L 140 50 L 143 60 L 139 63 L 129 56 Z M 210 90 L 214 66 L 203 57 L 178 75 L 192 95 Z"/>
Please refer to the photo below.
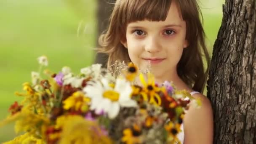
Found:
<path fill-rule="evenodd" d="M 109 28 L 99 38 L 108 66 L 116 60 L 150 63 L 157 83 L 173 81 L 202 100 L 200 109 L 191 107 L 184 117 L 178 137 L 185 144 L 213 143 L 211 103 L 200 94 L 208 73 L 202 55 L 207 66 L 210 59 L 204 37 L 196 0 L 116 0 Z"/>

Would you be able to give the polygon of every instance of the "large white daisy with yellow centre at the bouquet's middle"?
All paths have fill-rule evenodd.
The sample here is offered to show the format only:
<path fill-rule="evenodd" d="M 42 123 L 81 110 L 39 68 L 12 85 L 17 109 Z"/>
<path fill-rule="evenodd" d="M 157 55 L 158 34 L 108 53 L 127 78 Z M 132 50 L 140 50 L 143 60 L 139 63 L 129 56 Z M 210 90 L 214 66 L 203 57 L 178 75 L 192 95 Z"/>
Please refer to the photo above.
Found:
<path fill-rule="evenodd" d="M 102 78 L 101 81 L 89 83 L 83 91 L 91 98 L 90 109 L 98 114 L 104 111 L 111 119 L 118 115 L 120 107 L 137 107 L 136 101 L 131 99 L 131 84 L 124 79 L 118 78 L 112 88 L 109 81 Z"/>

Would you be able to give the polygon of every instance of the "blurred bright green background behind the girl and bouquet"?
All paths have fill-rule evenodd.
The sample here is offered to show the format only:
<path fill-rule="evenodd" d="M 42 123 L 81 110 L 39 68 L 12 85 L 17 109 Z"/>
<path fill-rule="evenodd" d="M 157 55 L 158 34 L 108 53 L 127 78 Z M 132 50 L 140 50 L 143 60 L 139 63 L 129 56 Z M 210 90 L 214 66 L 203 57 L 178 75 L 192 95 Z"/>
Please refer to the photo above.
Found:
<path fill-rule="evenodd" d="M 93 63 L 97 1 L 77 0 L 74 5 L 75 1 L 0 1 L 0 120 L 13 101 L 20 100 L 14 92 L 22 91 L 31 71 L 38 70 L 38 56 L 48 56 L 48 68 L 54 72 L 69 66 L 77 73 Z M 200 1 L 210 54 L 221 24 L 222 3 Z M 77 11 L 77 6 L 83 11 Z M 15 136 L 13 124 L 0 128 L 0 142 Z"/>

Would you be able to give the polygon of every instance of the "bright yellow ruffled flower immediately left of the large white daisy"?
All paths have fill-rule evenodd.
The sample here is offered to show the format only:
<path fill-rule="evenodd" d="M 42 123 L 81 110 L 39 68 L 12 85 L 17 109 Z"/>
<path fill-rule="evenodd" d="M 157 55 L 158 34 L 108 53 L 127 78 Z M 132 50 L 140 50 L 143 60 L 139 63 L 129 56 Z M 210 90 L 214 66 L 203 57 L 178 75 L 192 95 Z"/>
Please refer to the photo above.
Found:
<path fill-rule="evenodd" d="M 75 109 L 75 111 L 86 111 L 88 107 L 89 98 L 85 97 L 83 92 L 77 91 L 63 101 L 64 109 Z"/>

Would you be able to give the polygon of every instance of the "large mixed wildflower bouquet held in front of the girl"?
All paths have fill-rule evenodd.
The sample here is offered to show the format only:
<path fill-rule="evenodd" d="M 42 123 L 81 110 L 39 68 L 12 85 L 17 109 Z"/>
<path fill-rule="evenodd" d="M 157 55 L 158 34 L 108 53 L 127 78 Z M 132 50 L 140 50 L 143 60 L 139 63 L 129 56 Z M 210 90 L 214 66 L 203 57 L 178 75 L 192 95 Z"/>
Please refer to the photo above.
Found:
<path fill-rule="evenodd" d="M 48 65 L 46 56 L 38 61 L 40 69 Z M 44 74 L 32 72 L 32 82 L 16 92 L 24 99 L 11 105 L 0 125 L 15 121 L 15 131 L 23 133 L 5 144 L 179 143 L 186 110 L 200 106 L 187 91 L 155 83 L 133 63 L 114 70 L 93 64 L 79 75 L 69 67 Z"/>

